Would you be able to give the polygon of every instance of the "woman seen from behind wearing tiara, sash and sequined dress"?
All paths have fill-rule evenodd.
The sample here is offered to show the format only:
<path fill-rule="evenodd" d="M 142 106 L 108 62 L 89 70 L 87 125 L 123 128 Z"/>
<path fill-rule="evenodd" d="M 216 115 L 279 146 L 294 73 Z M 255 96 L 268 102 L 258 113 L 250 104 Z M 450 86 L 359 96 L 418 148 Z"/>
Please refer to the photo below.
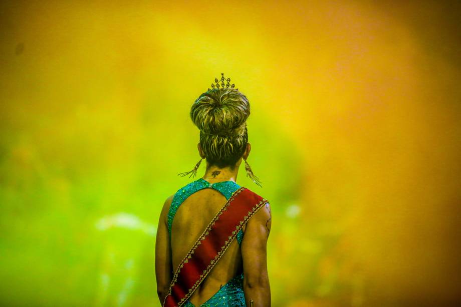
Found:
<path fill-rule="evenodd" d="M 180 175 L 195 176 L 202 159 L 205 174 L 168 197 L 160 214 L 155 272 L 163 306 L 271 304 L 266 262 L 270 205 L 236 183 L 244 160 L 247 175 L 260 185 L 247 163 L 250 104 L 221 75 L 191 107 L 201 159 Z"/>

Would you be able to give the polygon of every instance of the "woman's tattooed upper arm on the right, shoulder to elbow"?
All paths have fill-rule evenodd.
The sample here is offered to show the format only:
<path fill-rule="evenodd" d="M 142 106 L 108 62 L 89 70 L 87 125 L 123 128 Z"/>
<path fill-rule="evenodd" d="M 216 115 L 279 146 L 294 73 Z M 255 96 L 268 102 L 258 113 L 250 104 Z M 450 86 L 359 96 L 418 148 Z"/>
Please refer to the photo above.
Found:
<path fill-rule="evenodd" d="M 266 255 L 271 221 L 271 207 L 267 202 L 246 225 L 242 241 L 242 258 L 245 279 L 250 286 L 265 286 L 269 282 Z"/>

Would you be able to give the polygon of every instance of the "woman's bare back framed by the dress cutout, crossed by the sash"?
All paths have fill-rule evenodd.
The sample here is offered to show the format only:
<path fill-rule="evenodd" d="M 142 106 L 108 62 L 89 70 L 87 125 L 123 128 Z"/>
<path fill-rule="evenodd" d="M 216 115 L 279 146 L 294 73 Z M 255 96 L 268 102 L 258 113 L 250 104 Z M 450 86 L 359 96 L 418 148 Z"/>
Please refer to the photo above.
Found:
<path fill-rule="evenodd" d="M 217 190 L 204 188 L 187 197 L 178 208 L 171 227 L 171 251 L 173 269 L 202 234 L 211 219 L 225 204 L 226 198 Z M 245 227 L 243 228 L 245 231 Z M 200 305 L 213 295 L 220 286 L 243 271 L 242 252 L 234 240 L 219 262 L 209 272 L 189 300 Z"/>

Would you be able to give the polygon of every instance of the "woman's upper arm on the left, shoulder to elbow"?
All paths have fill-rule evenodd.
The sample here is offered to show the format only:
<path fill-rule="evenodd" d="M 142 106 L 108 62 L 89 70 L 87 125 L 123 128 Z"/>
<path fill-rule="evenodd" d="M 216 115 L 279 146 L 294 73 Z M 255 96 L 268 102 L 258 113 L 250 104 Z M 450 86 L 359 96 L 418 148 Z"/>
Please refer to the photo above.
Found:
<path fill-rule="evenodd" d="M 157 237 L 155 239 L 155 278 L 158 290 L 168 288 L 173 274 L 170 236 L 167 226 L 168 210 L 172 199 L 173 195 L 168 197 L 163 204 L 157 226 Z"/>

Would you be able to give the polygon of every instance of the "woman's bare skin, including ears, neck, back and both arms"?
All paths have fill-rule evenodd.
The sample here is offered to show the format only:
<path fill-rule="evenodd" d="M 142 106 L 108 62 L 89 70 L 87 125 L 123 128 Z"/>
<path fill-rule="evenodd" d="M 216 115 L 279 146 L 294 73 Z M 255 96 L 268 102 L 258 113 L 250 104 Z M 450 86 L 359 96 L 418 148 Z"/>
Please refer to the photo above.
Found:
<path fill-rule="evenodd" d="M 205 158 L 200 143 L 197 144 L 200 157 Z M 210 182 L 236 181 L 239 166 L 251 151 L 250 143 L 234 168 L 218 168 L 207 162 L 203 179 Z M 173 271 L 193 243 L 200 236 L 216 212 L 225 203 L 225 197 L 210 188 L 202 189 L 189 196 L 179 207 L 173 220 L 171 242 L 167 228 L 167 214 L 174 195 L 169 196 L 160 213 L 156 246 L 155 274 L 157 294 L 162 304 L 168 292 Z M 271 207 L 266 203 L 243 227 L 245 233 L 242 245 L 233 240 L 226 252 L 213 267 L 200 286 L 189 297 L 198 306 L 210 298 L 229 279 L 244 272 L 244 292 L 247 306 L 253 299 L 253 306 L 270 306 L 271 291 L 267 271 L 267 239 L 271 230 Z"/>

